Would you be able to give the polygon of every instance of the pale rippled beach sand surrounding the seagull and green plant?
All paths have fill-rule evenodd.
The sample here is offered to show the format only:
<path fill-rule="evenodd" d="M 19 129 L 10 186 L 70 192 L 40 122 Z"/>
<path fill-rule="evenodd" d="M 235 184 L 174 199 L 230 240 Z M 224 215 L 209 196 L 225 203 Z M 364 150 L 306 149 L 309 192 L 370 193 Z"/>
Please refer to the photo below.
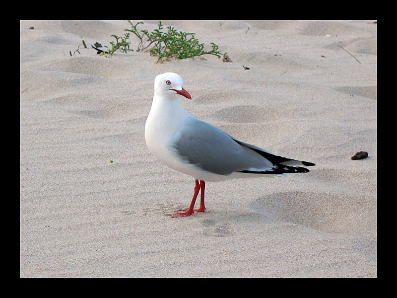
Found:
<path fill-rule="evenodd" d="M 233 62 L 156 64 L 133 35 L 134 51 L 97 55 L 125 20 L 20 21 L 19 276 L 377 278 L 375 20 L 162 23 Z M 184 78 L 196 118 L 316 166 L 208 182 L 205 213 L 164 216 L 195 185 L 145 144 L 165 72 Z"/>

